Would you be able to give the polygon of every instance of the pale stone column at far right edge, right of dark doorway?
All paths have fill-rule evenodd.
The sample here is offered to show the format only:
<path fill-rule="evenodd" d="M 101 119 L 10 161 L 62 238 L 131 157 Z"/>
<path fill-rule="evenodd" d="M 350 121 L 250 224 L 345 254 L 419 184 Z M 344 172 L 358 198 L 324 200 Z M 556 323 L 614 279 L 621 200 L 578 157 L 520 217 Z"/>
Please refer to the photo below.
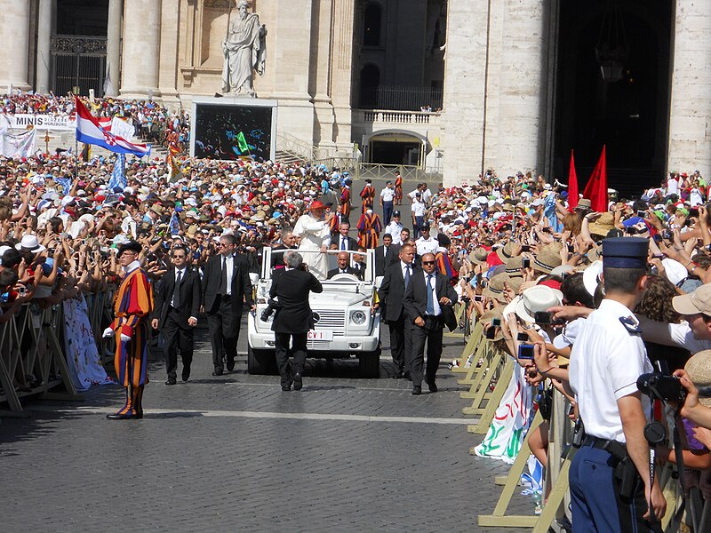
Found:
<path fill-rule="evenodd" d="M 668 170 L 711 176 L 711 2 L 676 0 Z"/>

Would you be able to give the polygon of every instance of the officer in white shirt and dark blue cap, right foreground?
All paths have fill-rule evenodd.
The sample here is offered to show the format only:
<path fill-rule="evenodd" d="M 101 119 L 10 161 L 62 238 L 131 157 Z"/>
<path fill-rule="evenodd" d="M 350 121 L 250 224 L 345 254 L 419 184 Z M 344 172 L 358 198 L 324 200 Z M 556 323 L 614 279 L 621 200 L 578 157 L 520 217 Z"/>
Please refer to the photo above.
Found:
<path fill-rule="evenodd" d="M 586 432 L 570 470 L 573 531 L 661 530 L 667 502 L 658 478 L 650 486 L 649 401 L 636 386 L 653 369 L 631 311 L 647 282 L 648 250 L 638 237 L 603 241 L 605 298 L 572 348 L 570 383 Z M 633 483 L 623 485 L 625 477 Z"/>

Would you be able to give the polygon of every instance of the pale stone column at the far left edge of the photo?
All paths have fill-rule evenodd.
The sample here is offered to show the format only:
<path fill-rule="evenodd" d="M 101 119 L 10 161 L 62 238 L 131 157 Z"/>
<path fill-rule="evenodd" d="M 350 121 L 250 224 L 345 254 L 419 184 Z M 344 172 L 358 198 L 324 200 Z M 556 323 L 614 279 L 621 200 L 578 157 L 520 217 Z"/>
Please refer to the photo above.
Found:
<path fill-rule="evenodd" d="M 0 91 L 28 90 L 29 2 L 0 0 Z"/>

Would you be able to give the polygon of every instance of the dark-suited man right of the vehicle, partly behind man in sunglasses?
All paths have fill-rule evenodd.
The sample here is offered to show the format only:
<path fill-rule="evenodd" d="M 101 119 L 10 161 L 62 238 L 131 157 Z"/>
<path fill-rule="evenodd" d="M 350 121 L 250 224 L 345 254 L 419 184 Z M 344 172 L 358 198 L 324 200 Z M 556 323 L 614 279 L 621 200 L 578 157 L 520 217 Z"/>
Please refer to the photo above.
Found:
<path fill-rule="evenodd" d="M 395 362 L 395 379 L 410 377 L 412 338 L 409 326 L 405 327 L 403 305 L 405 290 L 414 274 L 412 259 L 415 259 L 415 247 L 404 244 L 397 263 L 386 268 L 378 290 L 380 316 L 390 330 L 390 354 Z"/>

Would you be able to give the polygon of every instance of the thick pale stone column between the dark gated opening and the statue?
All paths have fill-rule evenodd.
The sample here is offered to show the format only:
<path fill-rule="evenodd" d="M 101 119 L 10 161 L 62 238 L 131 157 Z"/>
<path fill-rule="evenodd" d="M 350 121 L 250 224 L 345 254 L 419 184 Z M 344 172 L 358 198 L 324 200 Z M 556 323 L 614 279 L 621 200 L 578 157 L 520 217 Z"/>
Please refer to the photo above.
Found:
<path fill-rule="evenodd" d="M 124 0 L 121 95 L 146 98 L 158 91 L 161 0 Z"/>

